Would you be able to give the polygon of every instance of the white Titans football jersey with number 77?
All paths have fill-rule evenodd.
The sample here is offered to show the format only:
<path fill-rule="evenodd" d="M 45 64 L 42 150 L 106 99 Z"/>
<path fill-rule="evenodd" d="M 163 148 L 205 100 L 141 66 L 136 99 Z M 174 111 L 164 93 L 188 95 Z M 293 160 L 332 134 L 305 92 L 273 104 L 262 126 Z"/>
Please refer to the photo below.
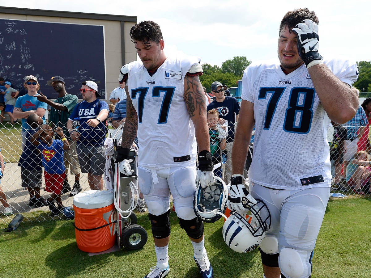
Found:
<path fill-rule="evenodd" d="M 128 64 L 128 90 L 138 114 L 138 165 L 195 165 L 196 138 L 184 101 L 184 77 L 197 57 L 168 57 L 150 76 L 141 61 Z"/>

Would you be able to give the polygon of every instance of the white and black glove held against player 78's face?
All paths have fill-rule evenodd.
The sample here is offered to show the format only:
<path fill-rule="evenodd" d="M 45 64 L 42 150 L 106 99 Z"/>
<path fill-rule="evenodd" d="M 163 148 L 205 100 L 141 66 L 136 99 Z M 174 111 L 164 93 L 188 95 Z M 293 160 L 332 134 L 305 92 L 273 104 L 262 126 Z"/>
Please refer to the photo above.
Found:
<path fill-rule="evenodd" d="M 318 25 L 310 19 L 296 24 L 292 31 L 298 34 L 298 52 L 306 67 L 321 64 L 323 59 L 318 53 Z"/>

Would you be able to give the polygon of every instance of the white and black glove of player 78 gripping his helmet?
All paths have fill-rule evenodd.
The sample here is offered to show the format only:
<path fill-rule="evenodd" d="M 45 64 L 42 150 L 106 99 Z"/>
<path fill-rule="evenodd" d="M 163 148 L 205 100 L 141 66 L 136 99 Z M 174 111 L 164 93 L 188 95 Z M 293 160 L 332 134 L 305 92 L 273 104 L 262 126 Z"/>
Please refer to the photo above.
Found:
<path fill-rule="evenodd" d="M 256 204 L 256 200 L 244 186 L 243 175 L 234 174 L 231 178 L 227 206 L 232 211 L 244 211 L 246 210 L 244 205 L 247 203 Z"/>

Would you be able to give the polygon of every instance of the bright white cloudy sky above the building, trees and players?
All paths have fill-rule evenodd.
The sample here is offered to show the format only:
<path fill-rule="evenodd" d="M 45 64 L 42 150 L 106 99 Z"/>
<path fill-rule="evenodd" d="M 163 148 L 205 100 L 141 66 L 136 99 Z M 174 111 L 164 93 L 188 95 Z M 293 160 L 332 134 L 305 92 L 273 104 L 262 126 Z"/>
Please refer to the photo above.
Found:
<path fill-rule="evenodd" d="M 371 60 L 369 0 L 0 0 L 0 6 L 137 16 L 160 24 L 167 55 L 183 52 L 221 66 L 234 56 L 276 58 L 279 23 L 298 7 L 319 18 L 323 57 Z M 9 5 L 11 3 L 11 5 Z"/>

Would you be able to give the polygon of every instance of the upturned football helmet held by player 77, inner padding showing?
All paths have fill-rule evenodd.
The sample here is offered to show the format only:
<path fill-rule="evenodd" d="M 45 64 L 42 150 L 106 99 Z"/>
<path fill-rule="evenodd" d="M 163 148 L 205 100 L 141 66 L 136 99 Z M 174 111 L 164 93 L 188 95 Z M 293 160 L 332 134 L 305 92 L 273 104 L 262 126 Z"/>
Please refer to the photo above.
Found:
<path fill-rule="evenodd" d="M 228 188 L 224 181 L 215 177 L 215 183 L 202 188 L 198 184 L 194 196 L 194 211 L 203 222 L 215 222 L 224 216 L 228 198 Z"/>

